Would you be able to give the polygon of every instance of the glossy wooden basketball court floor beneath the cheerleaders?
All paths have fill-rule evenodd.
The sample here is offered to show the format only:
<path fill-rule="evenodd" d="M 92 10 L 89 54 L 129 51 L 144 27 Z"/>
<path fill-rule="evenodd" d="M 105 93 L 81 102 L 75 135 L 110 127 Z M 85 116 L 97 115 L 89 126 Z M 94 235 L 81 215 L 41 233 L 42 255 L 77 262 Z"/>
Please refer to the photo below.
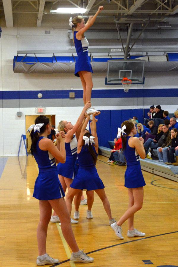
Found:
<path fill-rule="evenodd" d="M 97 169 L 112 215 L 119 219 L 128 206 L 125 166 L 112 166 L 99 156 Z M 31 156 L 0 158 L 0 174 L 0 266 L 36 266 L 39 207 L 32 197 L 38 174 L 35 160 Z M 135 228 L 146 233 L 144 238 L 128 238 L 125 222 L 124 240 L 118 239 L 96 193 L 92 220 L 86 218 L 87 206 L 80 206 L 79 223 L 72 228 L 79 247 L 94 258 L 89 266 L 178 266 L 178 183 L 146 171 L 143 175 L 144 204 L 135 214 Z M 47 253 L 60 259 L 59 266 L 86 265 L 68 260 L 70 249 L 58 223 L 49 224 Z"/>

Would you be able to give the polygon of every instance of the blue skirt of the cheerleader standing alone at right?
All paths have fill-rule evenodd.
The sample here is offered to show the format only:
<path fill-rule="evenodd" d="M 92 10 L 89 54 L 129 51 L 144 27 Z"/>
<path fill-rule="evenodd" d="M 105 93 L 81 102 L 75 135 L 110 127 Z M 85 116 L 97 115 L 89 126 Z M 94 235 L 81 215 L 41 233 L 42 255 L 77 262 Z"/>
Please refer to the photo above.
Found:
<path fill-rule="evenodd" d="M 125 184 L 127 188 L 137 188 L 146 185 L 140 164 L 127 166 L 125 171 Z"/>

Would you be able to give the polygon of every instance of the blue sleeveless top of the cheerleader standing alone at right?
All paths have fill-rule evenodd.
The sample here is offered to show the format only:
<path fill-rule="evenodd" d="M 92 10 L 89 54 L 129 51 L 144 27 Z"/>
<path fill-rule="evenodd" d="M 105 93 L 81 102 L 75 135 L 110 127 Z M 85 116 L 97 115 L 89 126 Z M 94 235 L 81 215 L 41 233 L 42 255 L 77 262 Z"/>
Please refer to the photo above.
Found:
<path fill-rule="evenodd" d="M 126 136 L 126 146 L 125 149 L 123 150 L 124 156 L 127 161 L 127 166 L 132 166 L 132 165 L 139 165 L 140 160 L 139 160 L 139 154 L 136 151 L 135 147 L 130 147 L 128 145 L 128 140 L 130 139 L 131 136 Z"/>

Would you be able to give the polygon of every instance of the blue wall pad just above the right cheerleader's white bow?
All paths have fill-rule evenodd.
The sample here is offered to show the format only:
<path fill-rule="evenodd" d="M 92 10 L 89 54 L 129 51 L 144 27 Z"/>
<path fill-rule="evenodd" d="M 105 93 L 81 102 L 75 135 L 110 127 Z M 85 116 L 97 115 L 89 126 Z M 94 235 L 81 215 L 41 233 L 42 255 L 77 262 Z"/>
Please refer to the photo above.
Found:
<path fill-rule="evenodd" d="M 111 110 L 111 140 L 117 137 L 117 128 L 122 123 L 122 110 Z"/>

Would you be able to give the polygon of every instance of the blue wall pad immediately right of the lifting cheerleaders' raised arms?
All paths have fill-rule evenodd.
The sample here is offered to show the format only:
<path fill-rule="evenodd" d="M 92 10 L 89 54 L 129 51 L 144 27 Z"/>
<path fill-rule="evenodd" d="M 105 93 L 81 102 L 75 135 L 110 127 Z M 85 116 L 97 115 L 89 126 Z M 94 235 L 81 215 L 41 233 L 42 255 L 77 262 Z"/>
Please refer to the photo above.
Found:
<path fill-rule="evenodd" d="M 108 140 L 111 140 L 111 112 L 110 110 L 101 110 L 100 117 L 100 146 L 110 147 Z"/>

